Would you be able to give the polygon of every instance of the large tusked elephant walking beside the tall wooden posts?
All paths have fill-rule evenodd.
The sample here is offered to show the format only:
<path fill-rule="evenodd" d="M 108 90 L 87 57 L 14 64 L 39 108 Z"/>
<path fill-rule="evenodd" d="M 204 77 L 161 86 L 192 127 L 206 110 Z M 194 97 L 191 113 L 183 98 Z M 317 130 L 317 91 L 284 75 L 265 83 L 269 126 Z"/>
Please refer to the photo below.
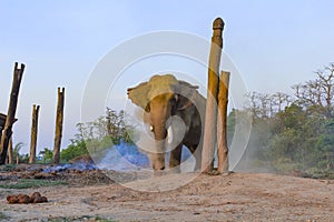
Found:
<path fill-rule="evenodd" d="M 148 153 L 154 172 L 165 170 L 166 138 L 170 127 L 173 140 L 179 138 L 170 151 L 169 169 L 180 172 L 183 145 L 195 157 L 195 170 L 200 168 L 206 99 L 197 89 L 197 85 L 177 80 L 173 74 L 156 74 L 149 81 L 127 90 L 131 102 L 145 110 L 145 122 L 154 134 L 154 152 Z M 170 120 L 175 118 L 181 120 L 181 125 L 173 124 Z"/>

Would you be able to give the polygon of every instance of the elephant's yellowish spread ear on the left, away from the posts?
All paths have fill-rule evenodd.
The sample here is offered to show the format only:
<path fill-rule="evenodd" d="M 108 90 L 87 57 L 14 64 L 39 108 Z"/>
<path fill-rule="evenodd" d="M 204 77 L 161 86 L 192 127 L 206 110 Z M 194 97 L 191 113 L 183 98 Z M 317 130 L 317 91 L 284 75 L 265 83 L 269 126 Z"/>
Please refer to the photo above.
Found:
<path fill-rule="evenodd" d="M 138 107 L 143 108 L 146 112 L 149 112 L 149 100 L 147 98 L 150 85 L 148 82 L 143 82 L 135 88 L 128 89 L 128 98 Z"/>

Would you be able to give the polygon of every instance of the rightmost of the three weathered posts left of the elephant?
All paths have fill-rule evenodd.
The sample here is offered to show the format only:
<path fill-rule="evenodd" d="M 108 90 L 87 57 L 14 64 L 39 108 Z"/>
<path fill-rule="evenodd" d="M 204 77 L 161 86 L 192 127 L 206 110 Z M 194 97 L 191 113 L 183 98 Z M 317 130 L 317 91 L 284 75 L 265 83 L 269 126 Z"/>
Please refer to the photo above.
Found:
<path fill-rule="evenodd" d="M 62 121 L 63 121 L 63 97 L 65 88 L 60 91 L 58 88 L 58 105 L 56 114 L 56 132 L 55 132 L 55 147 L 53 147 L 53 163 L 59 164 L 60 162 L 60 145 L 62 137 Z"/>

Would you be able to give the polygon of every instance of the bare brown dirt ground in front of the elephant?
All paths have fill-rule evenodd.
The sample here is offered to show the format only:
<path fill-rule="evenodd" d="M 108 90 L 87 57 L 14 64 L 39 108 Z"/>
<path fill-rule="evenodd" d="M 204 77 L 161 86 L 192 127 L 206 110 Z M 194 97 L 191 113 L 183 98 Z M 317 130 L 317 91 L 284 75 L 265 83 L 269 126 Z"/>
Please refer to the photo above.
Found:
<path fill-rule="evenodd" d="M 92 175 L 99 173 L 91 171 L 90 176 L 78 176 L 66 185 L 23 190 L 2 188 L 0 219 L 2 221 L 334 221 L 333 180 L 265 173 L 228 175 L 183 173 L 146 176 L 135 181 L 122 180 L 122 184 L 102 176 L 89 182 Z M 187 184 L 179 186 L 184 181 Z M 10 180 L 6 180 L 6 175 L 2 175 L 1 183 L 9 182 Z M 49 202 L 7 203 L 6 198 L 9 194 L 31 194 L 36 191 L 46 195 Z"/>

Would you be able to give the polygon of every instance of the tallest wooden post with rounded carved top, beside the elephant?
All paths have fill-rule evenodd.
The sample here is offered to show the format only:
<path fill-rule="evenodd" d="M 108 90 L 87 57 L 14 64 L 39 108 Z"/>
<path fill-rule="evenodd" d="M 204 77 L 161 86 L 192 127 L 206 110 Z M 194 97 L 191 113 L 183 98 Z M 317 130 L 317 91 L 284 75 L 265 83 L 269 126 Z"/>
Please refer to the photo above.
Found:
<path fill-rule="evenodd" d="M 202 172 L 209 173 L 213 170 L 214 151 L 217 141 L 217 97 L 219 85 L 219 65 L 223 48 L 222 32 L 224 21 L 215 19 L 213 24 L 212 48 L 208 63 L 208 89 L 205 114 L 205 129 L 202 153 Z"/>

